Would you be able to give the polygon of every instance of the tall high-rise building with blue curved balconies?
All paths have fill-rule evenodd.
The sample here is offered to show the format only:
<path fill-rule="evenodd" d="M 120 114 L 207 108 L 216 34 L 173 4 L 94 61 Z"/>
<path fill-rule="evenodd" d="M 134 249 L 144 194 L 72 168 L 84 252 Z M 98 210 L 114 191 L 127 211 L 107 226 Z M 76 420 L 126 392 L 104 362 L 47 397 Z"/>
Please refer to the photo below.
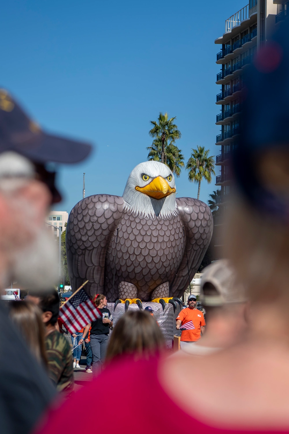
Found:
<path fill-rule="evenodd" d="M 219 148 L 216 157 L 216 185 L 220 195 L 217 197 L 218 216 L 215 217 L 214 222 L 215 259 L 222 257 L 221 226 L 226 204 L 232 193 L 229 159 L 231 152 L 237 146 L 240 133 L 239 118 L 242 109 L 241 90 L 244 72 L 252 62 L 257 48 L 266 43 L 279 23 L 286 19 L 287 8 L 289 8 L 289 1 L 250 0 L 249 4 L 225 21 L 223 36 L 215 39 L 215 44 L 222 46 L 216 61 L 221 67 L 216 81 L 216 84 L 221 85 L 216 100 L 217 107 L 220 109 L 216 125 L 220 125 L 221 129 L 216 138 L 216 145 Z"/>

